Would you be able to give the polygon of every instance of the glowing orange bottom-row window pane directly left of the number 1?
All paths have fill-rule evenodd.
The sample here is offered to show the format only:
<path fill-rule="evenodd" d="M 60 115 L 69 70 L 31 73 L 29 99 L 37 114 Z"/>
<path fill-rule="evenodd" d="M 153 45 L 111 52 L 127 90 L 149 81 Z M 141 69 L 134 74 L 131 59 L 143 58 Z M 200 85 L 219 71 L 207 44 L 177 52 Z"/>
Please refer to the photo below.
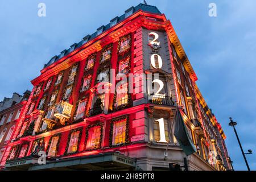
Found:
<path fill-rule="evenodd" d="M 122 121 L 114 122 L 113 126 L 113 145 L 122 144 L 125 143 L 125 137 L 126 137 L 126 119 L 123 119 Z"/>

